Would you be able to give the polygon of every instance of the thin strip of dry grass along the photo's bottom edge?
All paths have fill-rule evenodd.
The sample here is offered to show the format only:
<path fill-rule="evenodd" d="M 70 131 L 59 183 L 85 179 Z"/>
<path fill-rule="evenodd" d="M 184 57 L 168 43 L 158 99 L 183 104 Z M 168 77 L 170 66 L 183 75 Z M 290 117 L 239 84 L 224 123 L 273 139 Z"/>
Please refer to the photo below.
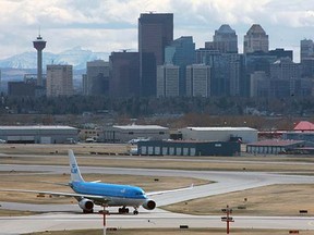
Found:
<path fill-rule="evenodd" d="M 43 233 L 32 233 L 27 235 L 99 235 L 101 234 L 100 230 L 88 230 L 88 231 L 58 231 L 58 232 L 43 232 Z M 108 235 L 182 235 L 182 234 L 193 234 L 193 235 L 222 235 L 226 234 L 226 230 L 221 228 L 200 228 L 200 230 L 118 230 L 118 231 L 107 231 Z M 238 235 L 287 235 L 289 231 L 287 230 L 238 230 L 231 228 L 230 234 Z M 313 234 L 313 231 L 300 231 L 300 234 L 310 235 Z"/>

